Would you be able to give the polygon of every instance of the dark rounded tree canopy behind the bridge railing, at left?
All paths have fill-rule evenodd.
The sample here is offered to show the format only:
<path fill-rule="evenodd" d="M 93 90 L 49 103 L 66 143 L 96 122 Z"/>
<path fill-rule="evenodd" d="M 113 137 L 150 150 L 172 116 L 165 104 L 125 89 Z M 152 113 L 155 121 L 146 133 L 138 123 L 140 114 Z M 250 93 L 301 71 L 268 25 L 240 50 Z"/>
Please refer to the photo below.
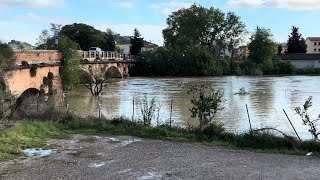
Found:
<path fill-rule="evenodd" d="M 63 26 L 60 35 L 78 43 L 82 50 L 87 51 L 90 47 L 100 47 L 104 51 L 115 49 L 115 33 L 110 29 L 102 32 L 87 24 L 74 23 Z"/>

